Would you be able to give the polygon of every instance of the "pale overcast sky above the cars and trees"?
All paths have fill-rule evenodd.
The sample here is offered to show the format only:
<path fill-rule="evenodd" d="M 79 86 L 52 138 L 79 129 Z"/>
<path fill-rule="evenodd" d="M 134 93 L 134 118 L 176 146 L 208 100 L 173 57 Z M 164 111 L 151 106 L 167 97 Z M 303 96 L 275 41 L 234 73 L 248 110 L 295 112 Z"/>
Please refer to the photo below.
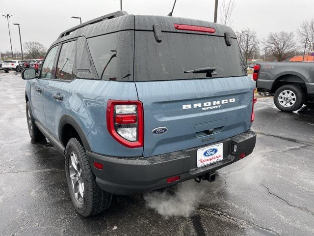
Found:
<path fill-rule="evenodd" d="M 27 2 L 27 3 L 26 3 Z M 123 10 L 130 14 L 167 15 L 174 0 L 123 0 Z M 222 0 L 219 0 L 221 3 Z M 0 0 L 0 15 L 9 20 L 13 51 L 20 51 L 18 27 L 22 42 L 38 41 L 47 48 L 60 32 L 82 21 L 120 9 L 120 0 Z M 220 9 L 218 8 L 218 22 Z M 213 21 L 214 0 L 177 0 L 173 16 Z M 7 21 L 0 16 L 0 52 L 10 50 Z M 249 27 L 259 38 L 270 31 L 295 31 L 303 20 L 314 18 L 314 0 L 235 0 L 232 15 L 234 31 Z"/>

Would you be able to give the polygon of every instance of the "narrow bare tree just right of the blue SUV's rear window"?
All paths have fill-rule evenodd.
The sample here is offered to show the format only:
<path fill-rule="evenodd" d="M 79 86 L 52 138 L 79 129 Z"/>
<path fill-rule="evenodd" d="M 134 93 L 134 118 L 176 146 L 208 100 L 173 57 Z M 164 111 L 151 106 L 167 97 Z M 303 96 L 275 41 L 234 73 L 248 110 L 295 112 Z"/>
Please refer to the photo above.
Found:
<path fill-rule="evenodd" d="M 242 33 L 238 35 L 237 40 L 246 63 L 253 53 L 259 53 L 260 41 L 254 30 L 249 28 L 242 29 Z"/>

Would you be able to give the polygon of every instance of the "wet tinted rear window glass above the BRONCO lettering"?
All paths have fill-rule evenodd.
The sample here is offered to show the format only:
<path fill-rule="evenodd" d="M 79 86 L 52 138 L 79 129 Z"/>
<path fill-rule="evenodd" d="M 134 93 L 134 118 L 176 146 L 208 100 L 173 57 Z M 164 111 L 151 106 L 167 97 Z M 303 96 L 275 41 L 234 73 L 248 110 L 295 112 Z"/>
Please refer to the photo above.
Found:
<path fill-rule="evenodd" d="M 162 32 L 157 43 L 153 31 L 135 32 L 134 80 L 184 80 L 207 78 L 206 73 L 183 73 L 215 67 L 218 75 L 246 75 L 245 63 L 236 39 L 228 47 L 224 37 Z"/>

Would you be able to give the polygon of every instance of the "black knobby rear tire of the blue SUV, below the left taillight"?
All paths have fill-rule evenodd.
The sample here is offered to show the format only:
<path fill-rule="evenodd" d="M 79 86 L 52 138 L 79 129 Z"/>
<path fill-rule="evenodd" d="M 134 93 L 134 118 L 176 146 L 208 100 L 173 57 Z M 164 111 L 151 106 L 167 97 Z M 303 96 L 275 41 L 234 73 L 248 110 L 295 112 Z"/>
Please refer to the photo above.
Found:
<path fill-rule="evenodd" d="M 71 164 L 72 158 L 76 158 L 76 169 Z M 70 170 L 71 168 L 71 170 Z M 78 170 L 76 172 L 76 170 Z M 70 171 L 73 178 L 77 178 L 75 186 L 72 184 Z M 82 216 L 91 216 L 103 212 L 110 206 L 112 194 L 103 191 L 95 181 L 95 175 L 89 164 L 85 148 L 81 145 L 77 138 L 71 138 L 65 149 L 65 172 L 70 192 L 70 197 L 75 209 Z M 76 174 L 74 174 L 76 173 Z M 79 184 L 83 183 L 83 196 L 75 194 L 75 188 L 78 189 Z"/>

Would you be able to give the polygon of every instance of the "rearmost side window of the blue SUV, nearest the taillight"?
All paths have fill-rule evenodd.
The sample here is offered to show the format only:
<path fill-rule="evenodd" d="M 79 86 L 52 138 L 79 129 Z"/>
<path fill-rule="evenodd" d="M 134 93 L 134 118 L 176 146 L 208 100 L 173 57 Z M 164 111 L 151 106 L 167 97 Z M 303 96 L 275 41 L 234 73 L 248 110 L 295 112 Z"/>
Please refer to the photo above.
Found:
<path fill-rule="evenodd" d="M 116 80 L 117 33 L 87 39 L 97 74 L 101 80 Z"/>

